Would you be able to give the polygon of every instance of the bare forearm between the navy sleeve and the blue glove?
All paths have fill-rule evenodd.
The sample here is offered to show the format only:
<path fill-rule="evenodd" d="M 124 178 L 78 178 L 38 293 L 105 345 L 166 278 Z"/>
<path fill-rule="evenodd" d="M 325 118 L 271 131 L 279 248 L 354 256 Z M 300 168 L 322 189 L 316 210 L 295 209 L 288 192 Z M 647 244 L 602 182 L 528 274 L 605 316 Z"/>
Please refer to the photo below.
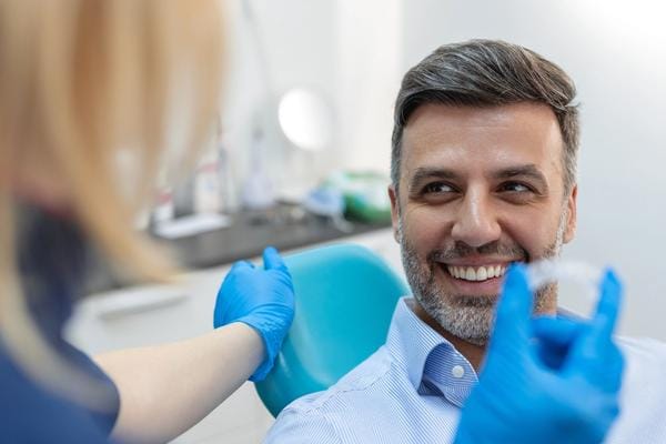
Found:
<path fill-rule="evenodd" d="M 173 440 L 239 389 L 263 355 L 260 335 L 236 323 L 186 341 L 95 356 L 120 392 L 112 437 Z"/>

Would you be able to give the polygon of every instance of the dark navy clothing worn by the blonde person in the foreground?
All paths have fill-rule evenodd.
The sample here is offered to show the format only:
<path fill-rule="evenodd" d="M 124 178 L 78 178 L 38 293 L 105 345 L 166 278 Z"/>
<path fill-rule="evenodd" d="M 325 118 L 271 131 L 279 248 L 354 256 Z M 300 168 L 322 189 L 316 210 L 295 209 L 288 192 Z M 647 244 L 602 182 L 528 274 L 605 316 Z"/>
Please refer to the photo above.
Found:
<path fill-rule="evenodd" d="M 62 336 L 87 272 L 85 236 L 68 218 L 29 204 L 16 211 L 17 264 L 30 314 L 52 350 L 108 389 L 108 408 L 90 411 L 36 383 L 0 336 L 0 442 L 107 443 L 120 410 L 118 390 Z"/>

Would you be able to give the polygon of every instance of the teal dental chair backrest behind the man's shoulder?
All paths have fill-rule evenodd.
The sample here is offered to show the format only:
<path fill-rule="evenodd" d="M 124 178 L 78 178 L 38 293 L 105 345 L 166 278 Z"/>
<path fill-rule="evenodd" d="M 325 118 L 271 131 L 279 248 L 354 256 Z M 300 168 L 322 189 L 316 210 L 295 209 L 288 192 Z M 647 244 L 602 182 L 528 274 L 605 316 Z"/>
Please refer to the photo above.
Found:
<path fill-rule="evenodd" d="M 275 366 L 256 383 L 273 416 L 293 400 L 326 390 L 386 340 L 405 282 L 372 251 L 352 244 L 284 258 L 296 306 Z"/>

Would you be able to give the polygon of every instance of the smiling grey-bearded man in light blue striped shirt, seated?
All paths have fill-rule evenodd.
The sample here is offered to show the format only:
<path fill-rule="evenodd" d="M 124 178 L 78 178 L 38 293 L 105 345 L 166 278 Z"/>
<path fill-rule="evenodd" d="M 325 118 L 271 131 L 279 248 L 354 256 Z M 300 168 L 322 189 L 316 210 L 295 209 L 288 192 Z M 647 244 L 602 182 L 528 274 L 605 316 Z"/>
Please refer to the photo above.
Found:
<path fill-rule="evenodd" d="M 502 41 L 443 46 L 405 74 L 389 193 L 413 297 L 398 302 L 384 346 L 289 405 L 268 442 L 453 440 L 507 266 L 557 256 L 574 236 L 574 100 L 561 68 Z M 556 311 L 556 289 L 544 287 L 535 314 Z M 623 351 L 628 408 L 608 440 L 666 442 L 666 347 L 626 340 Z M 659 383 L 648 393 L 647 381 Z"/>

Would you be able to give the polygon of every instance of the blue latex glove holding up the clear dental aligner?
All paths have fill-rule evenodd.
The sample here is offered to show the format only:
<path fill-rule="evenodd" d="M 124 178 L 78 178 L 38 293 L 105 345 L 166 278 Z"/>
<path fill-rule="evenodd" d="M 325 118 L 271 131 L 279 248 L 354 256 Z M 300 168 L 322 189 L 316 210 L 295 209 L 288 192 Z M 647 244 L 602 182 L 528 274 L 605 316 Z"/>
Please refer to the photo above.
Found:
<path fill-rule="evenodd" d="M 524 266 L 512 266 L 478 384 L 455 443 L 601 443 L 618 412 L 624 360 L 613 342 L 622 299 L 607 271 L 591 321 L 531 320 Z"/>

